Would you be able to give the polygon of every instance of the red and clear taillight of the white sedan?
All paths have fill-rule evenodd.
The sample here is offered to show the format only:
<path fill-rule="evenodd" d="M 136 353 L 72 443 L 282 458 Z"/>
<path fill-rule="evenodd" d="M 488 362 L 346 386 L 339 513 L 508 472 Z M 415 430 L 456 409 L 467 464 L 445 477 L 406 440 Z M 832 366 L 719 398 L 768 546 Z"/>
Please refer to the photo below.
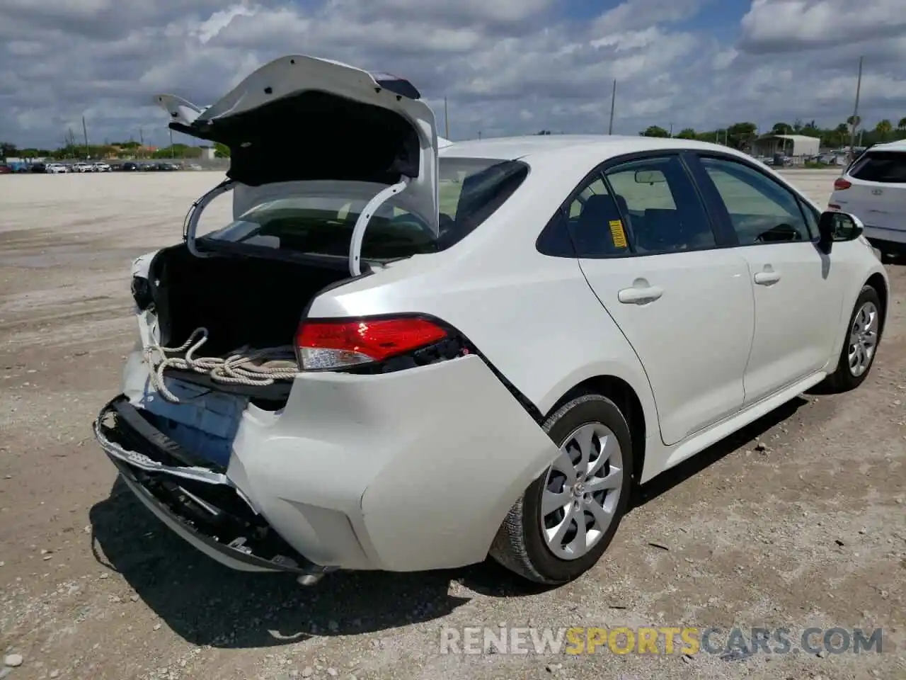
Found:
<path fill-rule="evenodd" d="M 383 361 L 447 337 L 447 331 L 428 319 L 363 318 L 357 321 L 304 321 L 296 334 L 303 370 L 342 368 Z"/>

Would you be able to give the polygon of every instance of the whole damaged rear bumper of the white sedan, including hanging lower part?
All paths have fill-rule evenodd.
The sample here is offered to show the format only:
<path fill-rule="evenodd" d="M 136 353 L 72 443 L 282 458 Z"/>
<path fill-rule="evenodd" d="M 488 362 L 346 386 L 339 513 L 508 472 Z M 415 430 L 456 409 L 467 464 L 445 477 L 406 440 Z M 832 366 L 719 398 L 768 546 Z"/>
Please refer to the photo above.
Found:
<path fill-rule="evenodd" d="M 265 559 L 251 560 L 255 568 L 321 573 L 480 562 L 514 500 L 558 452 L 476 355 L 388 374 L 301 374 L 275 411 L 220 404 L 216 390 L 171 409 L 149 388 L 147 372 L 134 353 L 124 395 L 96 424 L 99 442 L 140 491 L 164 502 L 158 510 L 176 517 L 183 538 L 188 531 L 198 549 L 217 550 L 212 557 L 224 563 L 247 565 L 251 555 Z M 236 426 L 220 428 L 218 413 Z M 107 419 L 119 425 L 111 429 Z M 207 423 L 198 427 L 217 432 L 226 455 L 203 451 L 201 438 L 169 429 L 169 420 Z M 168 501 L 170 491 L 178 505 Z M 228 531 L 212 528 L 198 501 L 283 542 L 255 543 L 245 524 L 243 532 L 230 523 Z M 246 541 L 230 546 L 236 538 Z M 284 558 L 294 563 L 287 568 Z"/>

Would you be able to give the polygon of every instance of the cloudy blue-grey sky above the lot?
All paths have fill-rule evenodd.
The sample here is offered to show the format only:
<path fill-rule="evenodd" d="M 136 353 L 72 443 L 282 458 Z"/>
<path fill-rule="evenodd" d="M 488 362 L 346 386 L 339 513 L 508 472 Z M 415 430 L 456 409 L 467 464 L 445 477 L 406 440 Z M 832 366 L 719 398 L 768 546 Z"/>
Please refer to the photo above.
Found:
<path fill-rule="evenodd" d="M 409 79 L 454 140 L 540 130 L 833 127 L 906 117 L 904 0 L 2 0 L 0 140 L 169 143 L 160 92 L 211 104 L 286 54 Z M 181 138 L 178 141 L 191 141 Z"/>

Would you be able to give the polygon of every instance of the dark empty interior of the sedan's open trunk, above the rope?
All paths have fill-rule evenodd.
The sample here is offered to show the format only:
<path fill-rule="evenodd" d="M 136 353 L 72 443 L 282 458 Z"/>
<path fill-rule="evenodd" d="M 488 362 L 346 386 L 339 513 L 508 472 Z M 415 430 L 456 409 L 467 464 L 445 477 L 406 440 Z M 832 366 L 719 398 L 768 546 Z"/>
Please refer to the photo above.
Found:
<path fill-rule="evenodd" d="M 159 253 L 150 280 L 160 343 L 178 347 L 207 328 L 199 355 L 226 355 L 293 345 L 305 309 L 324 287 L 349 277 L 345 268 L 317 267 L 264 257 L 195 257 L 185 245 Z"/>

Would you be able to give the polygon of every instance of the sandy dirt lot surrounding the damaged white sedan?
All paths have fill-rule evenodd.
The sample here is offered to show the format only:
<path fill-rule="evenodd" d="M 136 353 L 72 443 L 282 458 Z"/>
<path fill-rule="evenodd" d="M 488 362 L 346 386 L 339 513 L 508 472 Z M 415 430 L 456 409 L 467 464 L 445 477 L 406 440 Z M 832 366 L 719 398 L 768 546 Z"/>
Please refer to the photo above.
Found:
<path fill-rule="evenodd" d="M 834 173 L 791 175 L 826 202 Z M 306 589 L 190 549 L 91 436 L 133 343 L 130 258 L 177 241 L 220 177 L 0 178 L 0 652 L 24 659 L 0 677 L 906 677 L 902 263 L 862 388 L 797 399 L 648 485 L 573 585 L 483 564 Z M 439 654 L 441 627 L 499 624 L 883 627 L 883 653 Z"/>

